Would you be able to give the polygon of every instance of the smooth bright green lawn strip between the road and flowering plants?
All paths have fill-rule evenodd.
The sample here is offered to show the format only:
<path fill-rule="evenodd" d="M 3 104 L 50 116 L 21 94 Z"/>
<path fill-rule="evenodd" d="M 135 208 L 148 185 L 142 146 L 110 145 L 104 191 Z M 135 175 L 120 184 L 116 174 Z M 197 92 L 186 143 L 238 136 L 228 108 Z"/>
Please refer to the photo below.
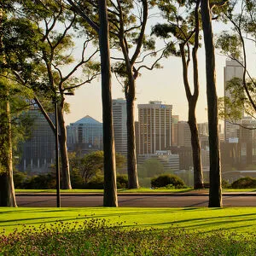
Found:
<path fill-rule="evenodd" d="M 0 207 L 0 232 L 22 230 L 24 225 L 38 228 L 40 224 L 55 222 L 83 223 L 85 220 L 106 219 L 126 229 L 170 227 L 185 228 L 191 232 L 235 231 L 244 235 L 256 229 L 256 208 L 9 208 Z"/>

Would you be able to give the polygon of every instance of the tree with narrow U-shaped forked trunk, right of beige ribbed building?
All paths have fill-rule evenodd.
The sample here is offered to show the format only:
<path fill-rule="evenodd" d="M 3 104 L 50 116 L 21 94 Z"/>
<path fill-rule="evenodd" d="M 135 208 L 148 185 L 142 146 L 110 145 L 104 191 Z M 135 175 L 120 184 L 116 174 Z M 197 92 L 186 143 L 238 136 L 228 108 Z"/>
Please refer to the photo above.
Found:
<path fill-rule="evenodd" d="M 199 75 L 197 51 L 200 47 L 200 0 L 195 1 L 159 1 L 158 8 L 166 23 L 153 27 L 153 33 L 160 38 L 171 38 L 179 44 L 179 52 L 183 64 L 183 85 L 189 102 L 189 129 L 191 132 L 191 146 L 194 165 L 194 188 L 201 189 L 203 172 L 201 166 L 201 145 L 195 116 L 196 103 L 199 96 Z M 192 52 L 191 52 L 192 48 Z M 189 63 L 193 62 L 193 93 L 189 83 Z"/>

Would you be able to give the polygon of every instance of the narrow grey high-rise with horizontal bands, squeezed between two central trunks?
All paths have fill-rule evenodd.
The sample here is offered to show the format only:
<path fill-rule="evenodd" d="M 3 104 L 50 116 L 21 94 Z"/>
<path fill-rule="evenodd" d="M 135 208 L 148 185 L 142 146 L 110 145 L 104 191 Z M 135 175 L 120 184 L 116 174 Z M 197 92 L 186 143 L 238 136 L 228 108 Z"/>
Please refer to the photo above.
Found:
<path fill-rule="evenodd" d="M 115 151 L 119 154 L 127 154 L 127 128 L 126 128 L 126 101 L 124 99 L 112 100 L 113 134 Z"/>

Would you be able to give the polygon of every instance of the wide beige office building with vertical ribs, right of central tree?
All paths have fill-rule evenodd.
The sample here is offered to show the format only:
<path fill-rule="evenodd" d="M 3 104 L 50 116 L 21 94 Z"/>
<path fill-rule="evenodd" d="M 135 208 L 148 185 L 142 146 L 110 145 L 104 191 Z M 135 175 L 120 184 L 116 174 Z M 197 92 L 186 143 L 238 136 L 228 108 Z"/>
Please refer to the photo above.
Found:
<path fill-rule="evenodd" d="M 172 145 L 172 105 L 138 104 L 139 154 L 155 154 Z"/>

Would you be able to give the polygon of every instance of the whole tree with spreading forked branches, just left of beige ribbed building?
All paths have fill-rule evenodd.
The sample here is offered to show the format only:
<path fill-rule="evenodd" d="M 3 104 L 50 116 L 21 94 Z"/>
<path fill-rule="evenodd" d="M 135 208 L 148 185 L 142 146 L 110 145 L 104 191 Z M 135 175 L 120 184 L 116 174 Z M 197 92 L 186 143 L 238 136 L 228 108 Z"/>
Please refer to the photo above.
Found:
<path fill-rule="evenodd" d="M 160 67 L 158 62 L 161 58 L 169 55 L 170 49 L 172 49 L 167 44 L 162 49 L 156 50 L 154 38 L 149 38 L 146 34 L 146 26 L 150 18 L 148 15 L 149 7 L 150 4 L 147 0 L 117 0 L 116 2 L 111 1 L 108 8 L 111 42 L 114 46 L 117 46 L 122 55 L 121 57 L 112 56 L 112 59 L 117 61 L 114 64 L 113 72 L 117 75 L 117 78 L 123 79 L 125 91 L 129 189 L 137 189 L 139 185 L 134 122 L 136 81 L 141 69 L 153 70 L 155 67 Z M 149 56 L 154 56 L 151 65 L 148 65 Z"/>

